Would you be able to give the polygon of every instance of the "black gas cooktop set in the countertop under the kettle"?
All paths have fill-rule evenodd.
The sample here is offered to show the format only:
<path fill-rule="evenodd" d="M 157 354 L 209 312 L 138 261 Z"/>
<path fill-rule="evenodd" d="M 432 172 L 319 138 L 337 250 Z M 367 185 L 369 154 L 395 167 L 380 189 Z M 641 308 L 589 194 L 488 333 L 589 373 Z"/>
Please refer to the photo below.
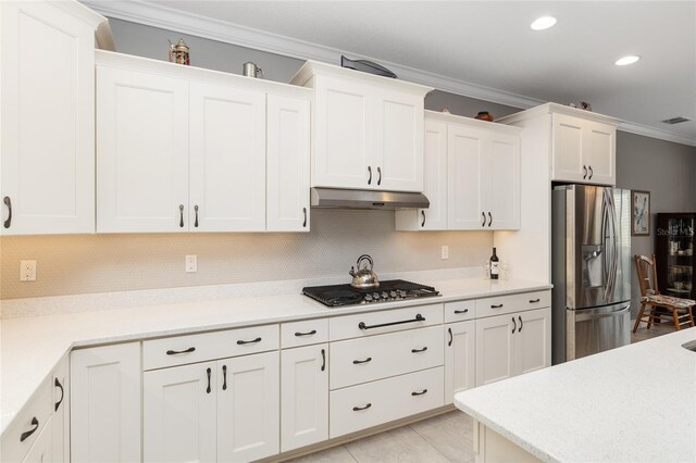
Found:
<path fill-rule="evenodd" d="M 432 286 L 402 279 L 381 281 L 377 288 L 358 289 L 350 285 L 308 286 L 302 295 L 327 305 L 338 308 L 352 304 L 371 304 L 376 302 L 403 301 L 407 299 L 439 296 Z"/>

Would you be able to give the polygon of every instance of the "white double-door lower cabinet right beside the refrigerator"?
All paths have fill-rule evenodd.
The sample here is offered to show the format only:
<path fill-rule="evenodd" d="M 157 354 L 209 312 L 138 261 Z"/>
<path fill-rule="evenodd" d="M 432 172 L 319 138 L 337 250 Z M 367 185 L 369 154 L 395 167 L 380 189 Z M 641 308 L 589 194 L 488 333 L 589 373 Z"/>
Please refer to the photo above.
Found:
<path fill-rule="evenodd" d="M 551 309 L 476 320 L 476 386 L 551 364 Z"/>

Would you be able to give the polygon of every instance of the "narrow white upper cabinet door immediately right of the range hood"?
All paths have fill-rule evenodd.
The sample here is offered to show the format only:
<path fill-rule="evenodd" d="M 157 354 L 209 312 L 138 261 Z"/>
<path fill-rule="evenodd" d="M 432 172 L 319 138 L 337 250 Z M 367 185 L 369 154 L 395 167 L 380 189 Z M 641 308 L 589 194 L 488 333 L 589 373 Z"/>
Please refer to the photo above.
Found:
<path fill-rule="evenodd" d="M 431 201 L 418 212 L 419 229 L 447 229 L 447 124 L 425 121 L 423 193 Z"/>

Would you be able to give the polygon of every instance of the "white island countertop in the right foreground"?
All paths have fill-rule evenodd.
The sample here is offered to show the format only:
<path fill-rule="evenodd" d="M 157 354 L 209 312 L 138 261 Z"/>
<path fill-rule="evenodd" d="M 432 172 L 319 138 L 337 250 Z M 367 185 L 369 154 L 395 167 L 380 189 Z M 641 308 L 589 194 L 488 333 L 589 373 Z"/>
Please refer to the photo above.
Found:
<path fill-rule="evenodd" d="M 543 461 L 695 462 L 696 328 L 459 392 L 455 404 Z"/>

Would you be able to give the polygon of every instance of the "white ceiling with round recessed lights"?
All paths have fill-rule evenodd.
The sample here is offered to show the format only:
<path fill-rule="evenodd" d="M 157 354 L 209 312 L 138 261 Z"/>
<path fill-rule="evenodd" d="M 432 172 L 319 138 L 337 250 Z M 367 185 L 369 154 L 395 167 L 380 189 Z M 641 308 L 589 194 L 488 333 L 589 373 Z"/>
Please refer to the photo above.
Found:
<path fill-rule="evenodd" d="M 596 112 L 632 123 L 630 132 L 696 145 L 695 1 L 148 0 L 105 4 L 116 10 L 136 5 L 140 10 L 133 11 L 141 13 L 147 7 L 154 23 L 152 11 L 160 10 L 160 17 L 170 21 L 179 14 L 179 24 L 189 21 L 200 26 L 210 20 L 214 30 L 240 25 L 251 38 L 244 40 L 237 28 L 237 37 L 247 41 L 240 45 L 258 43 L 258 48 L 297 58 L 335 57 L 334 62 L 345 52 L 391 65 L 402 78 L 496 102 L 529 107 L 534 100 L 587 101 Z M 130 20 L 138 21 L 137 11 Z M 558 24 L 544 32 L 531 30 L 530 24 L 540 15 L 554 15 Z M 625 54 L 643 59 L 616 66 L 613 62 Z M 673 126 L 660 122 L 674 116 L 692 121 Z"/>

